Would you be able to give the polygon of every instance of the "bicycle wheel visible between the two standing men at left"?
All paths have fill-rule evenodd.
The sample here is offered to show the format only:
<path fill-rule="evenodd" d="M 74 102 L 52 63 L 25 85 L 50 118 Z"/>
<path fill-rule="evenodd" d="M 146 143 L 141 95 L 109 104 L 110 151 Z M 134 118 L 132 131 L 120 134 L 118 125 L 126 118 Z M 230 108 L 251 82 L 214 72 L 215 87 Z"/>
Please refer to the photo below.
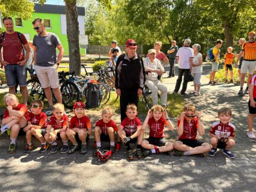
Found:
<path fill-rule="evenodd" d="M 28 89 L 28 103 L 33 100 L 44 100 L 45 95 L 43 88 L 41 88 L 41 84 L 38 79 L 30 79 L 27 81 L 27 89 Z"/>

